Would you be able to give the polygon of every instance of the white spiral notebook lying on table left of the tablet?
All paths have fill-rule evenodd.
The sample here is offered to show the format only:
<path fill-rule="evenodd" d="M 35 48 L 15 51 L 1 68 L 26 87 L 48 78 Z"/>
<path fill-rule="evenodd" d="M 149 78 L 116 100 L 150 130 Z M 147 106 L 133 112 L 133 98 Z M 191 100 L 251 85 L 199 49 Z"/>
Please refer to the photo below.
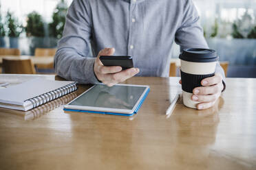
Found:
<path fill-rule="evenodd" d="M 0 89 L 0 107 L 27 111 L 76 89 L 76 82 L 36 78 Z"/>

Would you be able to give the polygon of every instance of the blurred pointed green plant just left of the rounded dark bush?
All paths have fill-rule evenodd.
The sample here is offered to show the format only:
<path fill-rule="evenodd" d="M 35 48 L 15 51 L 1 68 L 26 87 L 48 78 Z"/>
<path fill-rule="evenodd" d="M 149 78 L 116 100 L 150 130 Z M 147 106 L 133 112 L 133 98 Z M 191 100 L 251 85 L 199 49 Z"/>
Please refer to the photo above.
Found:
<path fill-rule="evenodd" d="M 19 24 L 18 20 L 10 11 L 7 12 L 6 19 L 8 25 L 8 36 L 19 37 L 19 35 L 23 32 L 23 26 Z"/>

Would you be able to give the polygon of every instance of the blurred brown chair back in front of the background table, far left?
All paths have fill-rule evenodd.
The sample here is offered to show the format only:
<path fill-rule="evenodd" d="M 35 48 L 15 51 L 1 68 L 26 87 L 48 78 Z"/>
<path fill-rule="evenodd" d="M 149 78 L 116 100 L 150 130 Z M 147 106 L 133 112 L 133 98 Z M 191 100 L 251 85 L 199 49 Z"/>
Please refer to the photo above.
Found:
<path fill-rule="evenodd" d="M 35 74 L 36 71 L 30 58 L 3 58 L 3 73 Z"/>

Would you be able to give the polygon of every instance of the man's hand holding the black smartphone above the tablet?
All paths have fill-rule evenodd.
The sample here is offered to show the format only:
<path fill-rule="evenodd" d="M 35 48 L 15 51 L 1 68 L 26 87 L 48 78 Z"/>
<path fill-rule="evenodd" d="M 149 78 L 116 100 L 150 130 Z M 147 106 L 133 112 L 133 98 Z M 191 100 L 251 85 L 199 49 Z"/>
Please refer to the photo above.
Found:
<path fill-rule="evenodd" d="M 104 66 L 100 61 L 100 56 L 111 56 L 114 52 L 114 48 L 105 48 L 98 53 L 94 62 L 94 73 L 96 77 L 107 86 L 114 86 L 115 84 L 124 82 L 140 72 L 138 68 L 122 71 L 121 66 Z"/>

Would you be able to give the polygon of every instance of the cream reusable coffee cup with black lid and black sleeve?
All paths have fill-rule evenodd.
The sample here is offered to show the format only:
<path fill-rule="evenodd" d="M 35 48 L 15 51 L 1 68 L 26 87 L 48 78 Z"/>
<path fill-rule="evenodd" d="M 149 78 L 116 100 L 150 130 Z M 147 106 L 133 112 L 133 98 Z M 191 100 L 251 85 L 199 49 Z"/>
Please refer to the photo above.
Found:
<path fill-rule="evenodd" d="M 213 49 L 184 49 L 180 54 L 183 104 L 196 108 L 199 103 L 191 99 L 193 89 L 201 85 L 206 77 L 215 75 L 218 56 Z"/>

